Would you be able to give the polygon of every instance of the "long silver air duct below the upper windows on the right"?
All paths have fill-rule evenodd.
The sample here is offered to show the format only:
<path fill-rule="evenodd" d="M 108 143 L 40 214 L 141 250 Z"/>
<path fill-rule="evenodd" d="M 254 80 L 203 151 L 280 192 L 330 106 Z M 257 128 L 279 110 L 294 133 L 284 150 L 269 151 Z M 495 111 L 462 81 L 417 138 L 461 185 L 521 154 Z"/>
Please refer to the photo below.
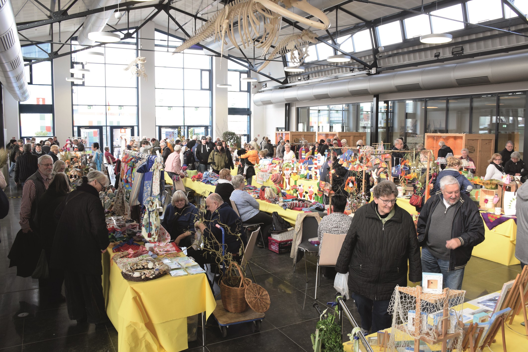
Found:
<path fill-rule="evenodd" d="M 257 106 L 528 80 L 528 53 L 257 93 Z"/>

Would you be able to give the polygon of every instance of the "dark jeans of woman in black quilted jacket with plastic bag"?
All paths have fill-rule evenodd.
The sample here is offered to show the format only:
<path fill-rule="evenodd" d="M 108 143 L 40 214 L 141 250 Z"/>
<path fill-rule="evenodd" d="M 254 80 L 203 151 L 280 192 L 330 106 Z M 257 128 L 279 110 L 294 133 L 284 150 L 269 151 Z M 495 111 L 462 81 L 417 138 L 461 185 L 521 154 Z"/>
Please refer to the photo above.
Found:
<path fill-rule="evenodd" d="M 361 317 L 361 328 L 363 330 L 376 332 L 392 325 L 392 316 L 389 314 L 390 299 L 384 301 L 373 301 L 361 294 L 352 293 L 356 303 L 357 312 Z"/>

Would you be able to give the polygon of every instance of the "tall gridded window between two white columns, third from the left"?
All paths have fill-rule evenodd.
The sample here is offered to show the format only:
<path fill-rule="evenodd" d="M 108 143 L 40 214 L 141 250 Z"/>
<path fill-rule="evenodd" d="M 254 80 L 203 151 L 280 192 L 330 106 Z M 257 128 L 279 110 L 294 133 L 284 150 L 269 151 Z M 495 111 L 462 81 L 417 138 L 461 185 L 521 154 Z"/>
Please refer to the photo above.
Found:
<path fill-rule="evenodd" d="M 156 30 L 155 87 L 158 138 L 187 137 L 211 130 L 211 57 L 198 47 L 173 54 L 183 40 Z"/>

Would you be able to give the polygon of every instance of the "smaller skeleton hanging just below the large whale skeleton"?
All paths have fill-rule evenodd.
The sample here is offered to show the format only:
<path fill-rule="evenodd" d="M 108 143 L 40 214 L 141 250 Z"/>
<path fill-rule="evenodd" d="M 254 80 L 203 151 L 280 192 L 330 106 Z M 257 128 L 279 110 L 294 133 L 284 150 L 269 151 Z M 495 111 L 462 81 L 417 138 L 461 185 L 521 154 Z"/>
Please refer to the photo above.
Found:
<path fill-rule="evenodd" d="M 304 30 L 301 33 L 290 34 L 282 39 L 275 49 L 269 54 L 266 60 L 257 70 L 263 70 L 275 56 L 286 55 L 290 53 L 290 61 L 296 65 L 303 64 L 306 56 L 308 56 L 308 44 L 317 43 L 316 34 L 309 30 Z"/>

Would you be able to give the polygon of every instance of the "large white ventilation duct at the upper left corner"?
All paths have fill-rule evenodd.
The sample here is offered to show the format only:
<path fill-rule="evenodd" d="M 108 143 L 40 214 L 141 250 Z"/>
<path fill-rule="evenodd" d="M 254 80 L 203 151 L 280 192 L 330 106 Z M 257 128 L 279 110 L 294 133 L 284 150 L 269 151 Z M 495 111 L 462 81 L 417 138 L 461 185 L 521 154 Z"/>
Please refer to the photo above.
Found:
<path fill-rule="evenodd" d="M 18 101 L 30 98 L 10 0 L 0 0 L 0 82 Z"/>

